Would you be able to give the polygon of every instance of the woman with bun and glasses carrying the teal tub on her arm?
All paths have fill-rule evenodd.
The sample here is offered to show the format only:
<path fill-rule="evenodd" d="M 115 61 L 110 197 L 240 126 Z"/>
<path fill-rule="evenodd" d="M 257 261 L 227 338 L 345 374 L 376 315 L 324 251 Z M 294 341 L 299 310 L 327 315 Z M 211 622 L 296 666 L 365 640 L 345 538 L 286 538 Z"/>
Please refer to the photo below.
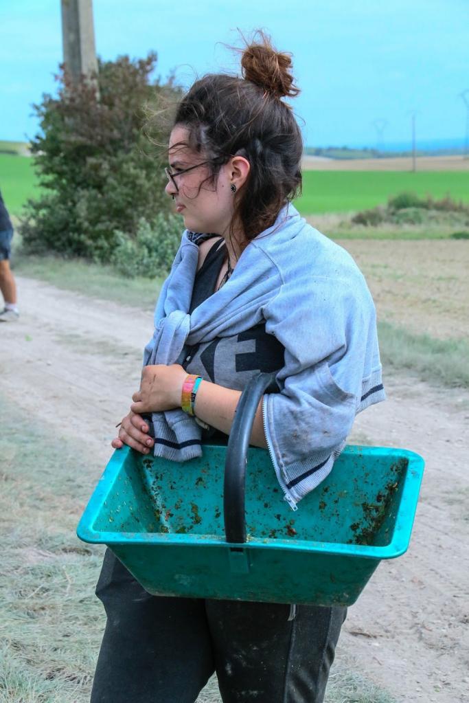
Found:
<path fill-rule="evenodd" d="M 243 78 L 208 75 L 178 105 L 166 193 L 186 231 L 112 446 L 200 456 L 206 434 L 229 434 L 246 382 L 277 371 L 251 444 L 268 449 L 296 510 L 384 392 L 361 273 L 289 204 L 303 152 L 282 101 L 298 93 L 290 67 L 262 35 Z M 93 703 L 193 703 L 213 671 L 224 703 L 324 699 L 344 608 L 157 598 L 109 551 L 97 594 L 107 626 Z"/>

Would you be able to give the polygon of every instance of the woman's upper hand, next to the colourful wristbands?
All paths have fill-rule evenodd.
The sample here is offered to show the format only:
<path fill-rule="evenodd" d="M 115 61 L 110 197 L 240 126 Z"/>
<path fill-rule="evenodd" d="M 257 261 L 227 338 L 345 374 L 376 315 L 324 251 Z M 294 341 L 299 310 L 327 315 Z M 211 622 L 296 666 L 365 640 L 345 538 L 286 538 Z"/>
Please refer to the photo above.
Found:
<path fill-rule="evenodd" d="M 157 364 L 144 366 L 140 390 L 132 396 L 133 413 L 158 413 L 164 410 L 180 408 L 183 383 L 187 371 L 173 363 L 171 366 Z"/>

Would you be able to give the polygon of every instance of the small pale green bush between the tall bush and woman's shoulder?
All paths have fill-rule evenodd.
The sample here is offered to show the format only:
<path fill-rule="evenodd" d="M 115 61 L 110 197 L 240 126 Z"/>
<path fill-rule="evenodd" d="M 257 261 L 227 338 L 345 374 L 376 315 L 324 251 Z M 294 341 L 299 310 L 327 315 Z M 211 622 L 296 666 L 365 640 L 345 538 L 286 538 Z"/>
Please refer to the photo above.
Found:
<path fill-rule="evenodd" d="M 135 237 L 115 231 L 117 245 L 111 262 L 119 273 L 133 276 L 166 276 L 180 244 L 184 225 L 176 215 L 158 214 L 152 224 L 145 219 L 138 223 Z"/>

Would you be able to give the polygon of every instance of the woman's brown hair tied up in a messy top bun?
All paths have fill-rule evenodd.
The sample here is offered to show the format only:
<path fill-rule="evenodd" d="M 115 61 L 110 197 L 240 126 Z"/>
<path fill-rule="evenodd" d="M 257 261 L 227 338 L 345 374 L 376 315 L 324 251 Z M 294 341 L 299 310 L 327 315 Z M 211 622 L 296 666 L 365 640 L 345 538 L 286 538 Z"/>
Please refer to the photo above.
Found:
<path fill-rule="evenodd" d="M 279 53 L 258 32 L 258 41 L 242 53 L 242 78 L 209 74 L 197 80 L 178 104 L 174 124 L 189 132 L 188 146 L 211 165 L 216 183 L 220 167 L 234 155 L 251 169 L 234 201 L 233 221 L 240 221 L 249 241 L 271 226 L 279 210 L 301 189 L 303 141 L 289 105 L 298 95 L 291 56 Z M 233 227 L 233 222 L 232 222 Z"/>

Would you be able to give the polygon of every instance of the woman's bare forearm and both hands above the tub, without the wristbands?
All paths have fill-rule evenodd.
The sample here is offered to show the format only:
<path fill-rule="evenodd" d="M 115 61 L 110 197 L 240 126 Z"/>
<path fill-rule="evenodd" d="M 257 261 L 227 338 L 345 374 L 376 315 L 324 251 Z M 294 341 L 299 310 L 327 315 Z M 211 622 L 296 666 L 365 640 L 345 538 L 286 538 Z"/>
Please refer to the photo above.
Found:
<path fill-rule="evenodd" d="M 142 371 L 140 390 L 133 394 L 131 413 L 122 420 L 119 437 L 112 441 L 115 449 L 128 444 L 143 453 L 150 451 L 153 441 L 145 434 L 147 423 L 141 413 L 160 412 L 180 408 L 183 382 L 187 371 L 178 364 L 171 366 L 145 366 Z M 234 413 L 241 396 L 241 391 L 219 386 L 202 380 L 195 399 L 195 413 L 204 423 L 216 427 L 220 432 L 230 434 Z M 262 400 L 256 411 L 251 434 L 251 444 L 267 447 L 263 427 Z M 147 449 L 150 447 L 150 449 Z"/>

